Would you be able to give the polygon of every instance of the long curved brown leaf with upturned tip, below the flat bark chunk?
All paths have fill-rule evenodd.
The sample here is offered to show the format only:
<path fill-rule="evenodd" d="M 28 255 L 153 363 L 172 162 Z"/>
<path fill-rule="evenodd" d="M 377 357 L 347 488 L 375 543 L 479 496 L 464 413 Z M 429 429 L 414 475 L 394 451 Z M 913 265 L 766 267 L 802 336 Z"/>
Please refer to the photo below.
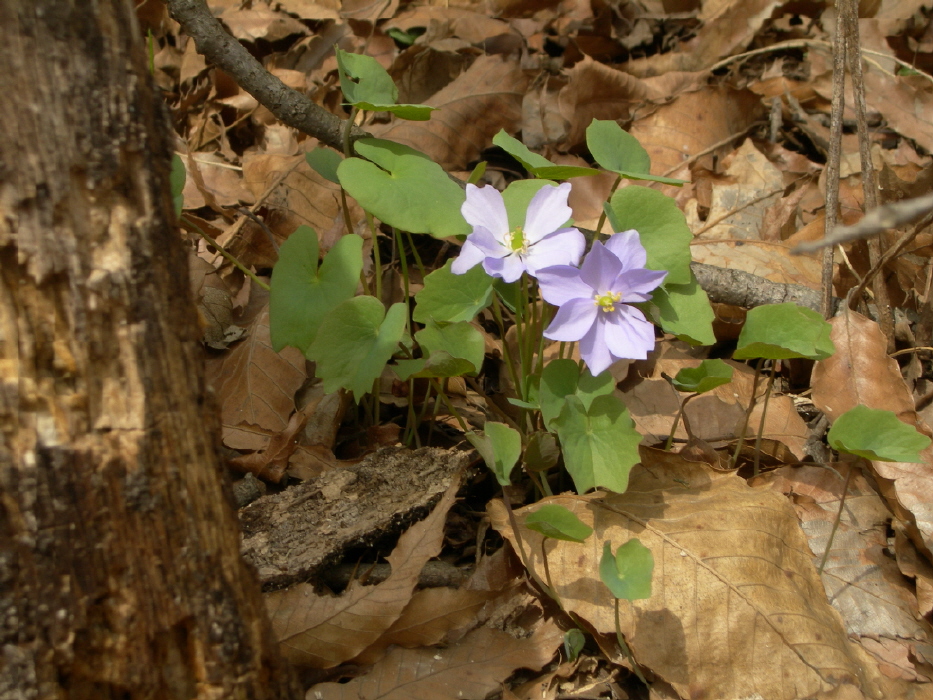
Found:
<path fill-rule="evenodd" d="M 444 543 L 444 521 L 460 479 L 451 482 L 431 514 L 403 534 L 388 557 L 392 574 L 375 586 L 352 583 L 343 595 L 317 596 L 310 584 L 266 595 L 282 653 L 299 666 L 331 668 L 374 643 L 411 600 L 425 562 Z"/>

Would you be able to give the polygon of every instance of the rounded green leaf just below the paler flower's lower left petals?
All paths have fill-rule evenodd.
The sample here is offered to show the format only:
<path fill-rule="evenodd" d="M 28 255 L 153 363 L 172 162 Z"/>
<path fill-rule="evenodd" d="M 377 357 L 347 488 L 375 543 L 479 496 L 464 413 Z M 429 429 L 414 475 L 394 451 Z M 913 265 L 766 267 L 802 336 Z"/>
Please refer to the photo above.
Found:
<path fill-rule="evenodd" d="M 482 265 L 465 274 L 450 271 L 451 260 L 424 278 L 424 288 L 415 294 L 414 319 L 427 323 L 431 319 L 454 323 L 472 321 L 492 302 L 492 277 Z"/>

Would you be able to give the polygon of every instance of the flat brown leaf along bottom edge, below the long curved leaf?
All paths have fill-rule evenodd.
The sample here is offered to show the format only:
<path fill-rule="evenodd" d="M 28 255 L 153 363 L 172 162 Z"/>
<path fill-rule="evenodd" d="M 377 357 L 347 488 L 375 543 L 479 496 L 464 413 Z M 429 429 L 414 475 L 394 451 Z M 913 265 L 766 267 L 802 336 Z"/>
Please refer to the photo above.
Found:
<path fill-rule="evenodd" d="M 482 627 L 446 649 L 393 649 L 362 678 L 313 686 L 306 700 L 483 700 L 515 669 L 540 670 L 563 632 L 544 622 L 525 639 Z"/>

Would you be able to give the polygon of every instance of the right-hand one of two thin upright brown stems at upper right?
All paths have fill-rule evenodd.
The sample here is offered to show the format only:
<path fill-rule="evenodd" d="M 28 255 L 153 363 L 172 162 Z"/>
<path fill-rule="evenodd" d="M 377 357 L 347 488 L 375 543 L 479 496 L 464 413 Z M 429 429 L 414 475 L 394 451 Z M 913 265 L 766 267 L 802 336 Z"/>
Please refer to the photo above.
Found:
<path fill-rule="evenodd" d="M 849 75 L 852 79 L 852 92 L 855 97 L 855 123 L 858 125 L 859 157 L 862 161 L 862 192 L 865 197 L 865 211 L 878 207 L 878 185 L 875 181 L 875 169 L 871 162 L 871 143 L 868 140 L 868 125 L 865 107 L 865 80 L 862 76 L 862 56 L 859 50 L 858 0 L 841 0 L 843 22 L 846 33 L 846 58 L 849 62 Z M 881 265 L 881 240 L 877 237 L 868 240 L 868 258 L 872 267 Z M 878 325 L 888 340 L 888 352 L 894 350 L 894 314 L 884 277 L 875 275 L 872 281 L 875 304 L 878 309 Z M 855 297 L 852 297 L 855 300 Z"/>

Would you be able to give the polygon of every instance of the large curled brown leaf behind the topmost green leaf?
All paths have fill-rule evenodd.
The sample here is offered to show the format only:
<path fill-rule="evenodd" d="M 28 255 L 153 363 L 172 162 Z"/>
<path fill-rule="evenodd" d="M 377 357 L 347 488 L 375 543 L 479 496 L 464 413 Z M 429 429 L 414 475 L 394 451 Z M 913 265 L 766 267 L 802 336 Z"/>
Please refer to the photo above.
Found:
<path fill-rule="evenodd" d="M 527 82 L 516 61 L 480 56 L 425 102 L 440 108 L 430 121 L 399 120 L 372 132 L 417 148 L 446 170 L 463 170 L 500 129 L 514 132 L 518 128 Z"/>

